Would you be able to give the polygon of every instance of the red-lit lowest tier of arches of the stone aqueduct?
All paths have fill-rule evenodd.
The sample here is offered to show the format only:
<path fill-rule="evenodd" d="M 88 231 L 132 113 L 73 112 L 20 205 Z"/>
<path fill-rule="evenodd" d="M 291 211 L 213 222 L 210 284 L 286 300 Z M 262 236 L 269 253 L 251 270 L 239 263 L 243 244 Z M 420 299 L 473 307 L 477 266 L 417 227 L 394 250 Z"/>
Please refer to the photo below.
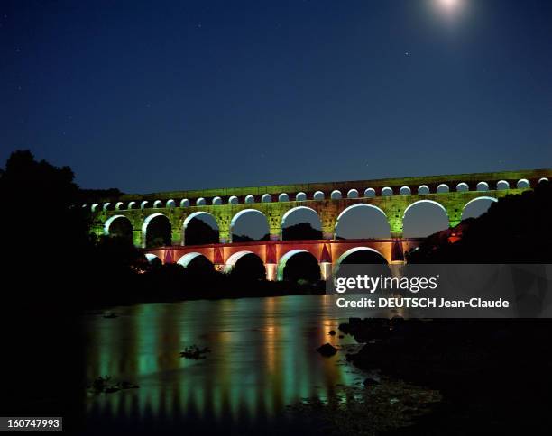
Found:
<path fill-rule="evenodd" d="M 418 247 L 420 239 L 312 240 L 312 241 L 252 241 L 231 244 L 171 246 L 147 251 L 146 257 L 162 263 L 178 263 L 188 267 L 198 257 L 206 258 L 219 271 L 229 271 L 245 256 L 261 259 L 269 280 L 281 280 L 289 259 L 308 253 L 317 260 L 320 276 L 326 279 L 333 270 L 354 254 L 369 254 L 374 261 L 403 263 L 404 253 Z"/>

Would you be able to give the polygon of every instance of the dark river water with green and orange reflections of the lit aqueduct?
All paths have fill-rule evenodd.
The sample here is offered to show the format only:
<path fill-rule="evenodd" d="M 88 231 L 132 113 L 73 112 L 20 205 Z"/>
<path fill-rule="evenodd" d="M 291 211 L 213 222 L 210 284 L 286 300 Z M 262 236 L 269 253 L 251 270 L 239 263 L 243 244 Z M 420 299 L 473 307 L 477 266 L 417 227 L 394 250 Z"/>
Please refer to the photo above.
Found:
<path fill-rule="evenodd" d="M 115 307 L 116 318 L 87 314 L 87 378 L 110 376 L 140 388 L 89 395 L 87 429 L 256 433 L 285 428 L 286 406 L 360 385 L 345 351 L 324 358 L 323 343 L 350 347 L 337 326 L 358 310 L 332 295 L 198 300 Z M 336 336 L 330 336 L 330 330 Z M 209 347 L 207 359 L 179 351 Z M 180 431 L 180 432 L 181 432 Z"/>

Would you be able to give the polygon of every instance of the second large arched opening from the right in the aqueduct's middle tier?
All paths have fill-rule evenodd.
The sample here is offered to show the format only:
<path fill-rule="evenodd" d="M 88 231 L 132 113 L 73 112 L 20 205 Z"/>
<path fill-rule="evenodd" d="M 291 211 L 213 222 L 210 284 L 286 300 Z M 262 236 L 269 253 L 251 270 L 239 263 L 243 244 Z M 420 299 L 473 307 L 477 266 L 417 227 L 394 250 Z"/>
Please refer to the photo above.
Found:
<path fill-rule="evenodd" d="M 425 238 L 448 228 L 448 214 L 442 204 L 419 200 L 405 209 L 402 224 L 405 238 Z"/>

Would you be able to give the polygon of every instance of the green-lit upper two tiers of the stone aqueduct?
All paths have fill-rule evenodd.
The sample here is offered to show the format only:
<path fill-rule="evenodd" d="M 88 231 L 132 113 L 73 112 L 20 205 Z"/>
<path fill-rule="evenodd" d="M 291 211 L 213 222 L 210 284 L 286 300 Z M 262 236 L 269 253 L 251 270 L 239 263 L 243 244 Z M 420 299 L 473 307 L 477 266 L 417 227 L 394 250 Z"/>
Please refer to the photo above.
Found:
<path fill-rule="evenodd" d="M 118 198 L 106 198 L 102 199 L 101 202 L 94 203 L 95 222 L 91 225 L 90 230 L 97 235 L 114 234 L 115 227 L 118 227 L 117 232 L 124 232 L 129 238 L 132 232 L 134 245 L 145 247 L 146 240 L 148 240 L 148 224 L 154 217 L 161 215 L 170 223 L 170 242 L 173 245 L 180 245 L 182 242 L 186 242 L 183 241 L 183 236 L 189 220 L 199 215 L 210 215 L 216 221 L 220 241 L 225 243 L 231 241 L 232 228 L 237 219 L 245 211 L 255 211 L 266 217 L 271 239 L 279 240 L 281 239 L 283 223 L 290 211 L 295 208 L 308 208 L 317 213 L 324 238 L 332 239 L 336 233 L 336 225 L 340 214 L 348 207 L 363 204 L 382 211 L 387 223 L 389 223 L 391 236 L 400 238 L 403 234 L 405 214 L 408 213 L 412 204 L 419 201 L 437 204 L 446 213 L 449 225 L 454 227 L 462 220 L 465 206 L 475 199 L 479 197 L 498 199 L 507 194 L 520 194 L 524 190 L 530 189 L 530 187 L 527 187 L 529 180 L 530 184 L 535 186 L 539 180 L 546 180 L 550 177 L 552 177 L 552 170 L 543 169 L 308 185 L 208 189 L 152 195 L 121 195 Z M 484 190 L 462 191 L 462 185 L 466 182 L 470 184 L 472 189 Z M 436 186 L 443 183 L 449 187 L 448 192 L 437 193 Z M 382 189 L 382 186 L 390 186 L 393 195 L 369 195 L 370 187 Z M 433 192 L 425 194 L 425 186 L 433 186 L 431 188 Z M 408 187 L 411 194 L 399 195 L 401 187 Z M 424 194 L 418 194 L 419 189 Z M 337 190 L 341 192 L 342 198 L 329 200 L 330 193 Z M 317 191 L 324 193 L 326 200 L 314 200 L 312 195 Z M 358 192 L 359 195 L 347 198 L 346 193 L 349 191 Z M 403 192 L 407 191 L 403 190 Z M 271 203 L 262 203 L 261 201 L 262 194 L 270 194 L 272 200 L 277 200 L 282 193 L 288 195 L 288 197 L 282 196 L 283 199 L 294 198 L 297 193 L 308 193 L 308 195 L 306 195 L 305 200 L 301 201 L 273 201 Z M 254 195 L 254 202 L 256 203 L 244 203 L 245 195 Z M 205 205 L 189 205 L 189 199 L 192 200 L 191 204 L 195 204 L 194 199 L 199 197 L 206 199 Z M 222 199 L 221 204 L 209 204 L 212 203 L 212 199 L 215 197 Z M 162 200 L 164 198 L 167 198 L 167 200 Z M 173 200 L 175 198 L 183 198 L 183 200 Z M 230 202 L 230 198 L 234 200 Z M 302 199 L 303 197 L 299 196 L 299 198 Z M 239 199 L 241 203 L 235 204 L 236 199 Z M 118 205 L 118 210 L 112 210 L 114 209 L 113 204 Z M 144 208 L 125 209 L 125 204 L 131 207 L 132 205 L 144 204 Z M 150 205 L 153 204 L 157 204 L 159 208 L 152 209 Z M 179 207 L 177 207 L 177 204 Z M 122 221 L 127 225 L 127 230 L 121 227 L 119 222 Z M 118 223 L 117 226 L 115 226 L 115 223 Z"/>

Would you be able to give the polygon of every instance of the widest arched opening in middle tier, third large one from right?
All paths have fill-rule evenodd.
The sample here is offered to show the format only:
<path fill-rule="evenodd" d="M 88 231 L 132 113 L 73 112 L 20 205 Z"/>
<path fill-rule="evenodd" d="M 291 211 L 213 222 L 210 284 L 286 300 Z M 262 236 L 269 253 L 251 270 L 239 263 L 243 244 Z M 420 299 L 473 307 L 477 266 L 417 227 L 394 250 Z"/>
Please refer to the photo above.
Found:
<path fill-rule="evenodd" d="M 373 204 L 354 204 L 337 216 L 336 239 L 389 238 L 387 216 Z"/>

